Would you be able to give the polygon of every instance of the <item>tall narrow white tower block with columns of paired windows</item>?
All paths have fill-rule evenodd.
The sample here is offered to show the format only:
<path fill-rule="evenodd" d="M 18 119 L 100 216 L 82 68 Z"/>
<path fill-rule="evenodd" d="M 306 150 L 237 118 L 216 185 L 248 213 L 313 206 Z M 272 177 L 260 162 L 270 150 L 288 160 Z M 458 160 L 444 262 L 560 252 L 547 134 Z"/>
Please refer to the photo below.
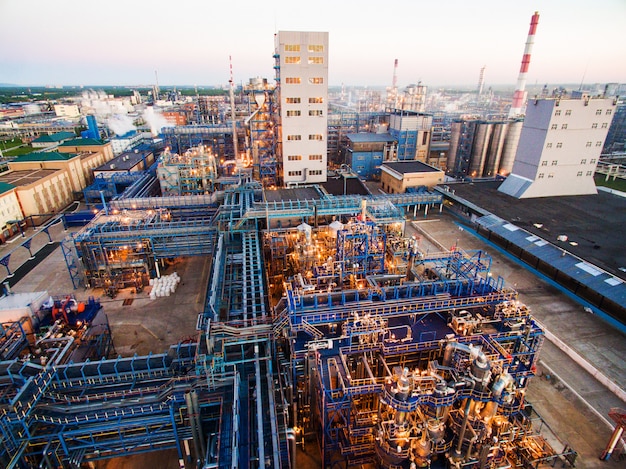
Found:
<path fill-rule="evenodd" d="M 276 58 L 284 185 L 326 182 L 328 33 L 279 31 Z"/>

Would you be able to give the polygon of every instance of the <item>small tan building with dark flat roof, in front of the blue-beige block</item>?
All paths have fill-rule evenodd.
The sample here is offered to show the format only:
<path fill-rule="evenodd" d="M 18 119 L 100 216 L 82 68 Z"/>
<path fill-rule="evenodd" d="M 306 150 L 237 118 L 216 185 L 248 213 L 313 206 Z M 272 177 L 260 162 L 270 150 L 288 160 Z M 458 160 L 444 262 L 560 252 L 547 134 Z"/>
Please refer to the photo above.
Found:
<path fill-rule="evenodd" d="M 411 187 L 432 189 L 445 176 L 442 170 L 421 161 L 387 162 L 380 169 L 380 185 L 390 194 L 403 194 Z"/>

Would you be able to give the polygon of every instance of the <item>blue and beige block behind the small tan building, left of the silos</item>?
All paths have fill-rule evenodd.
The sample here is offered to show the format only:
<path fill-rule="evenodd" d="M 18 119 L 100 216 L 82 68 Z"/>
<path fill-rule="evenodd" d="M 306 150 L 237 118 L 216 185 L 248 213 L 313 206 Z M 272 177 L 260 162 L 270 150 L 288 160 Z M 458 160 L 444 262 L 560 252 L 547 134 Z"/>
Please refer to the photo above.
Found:
<path fill-rule="evenodd" d="M 398 161 L 428 159 L 433 116 L 416 111 L 394 110 L 389 115 L 389 133 L 398 142 Z"/>

